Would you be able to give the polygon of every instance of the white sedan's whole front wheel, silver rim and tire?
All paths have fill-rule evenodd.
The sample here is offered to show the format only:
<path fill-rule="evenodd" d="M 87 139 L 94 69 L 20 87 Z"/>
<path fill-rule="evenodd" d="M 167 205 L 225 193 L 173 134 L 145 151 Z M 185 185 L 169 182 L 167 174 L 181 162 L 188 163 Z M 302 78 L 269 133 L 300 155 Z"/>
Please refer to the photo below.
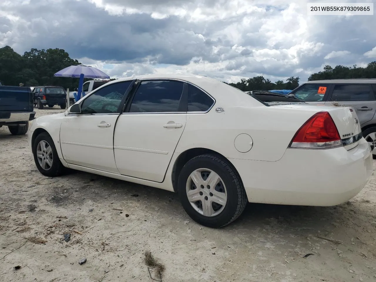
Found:
<path fill-rule="evenodd" d="M 45 176 L 60 176 L 64 171 L 51 136 L 43 132 L 33 143 L 33 156 L 39 172 Z"/>

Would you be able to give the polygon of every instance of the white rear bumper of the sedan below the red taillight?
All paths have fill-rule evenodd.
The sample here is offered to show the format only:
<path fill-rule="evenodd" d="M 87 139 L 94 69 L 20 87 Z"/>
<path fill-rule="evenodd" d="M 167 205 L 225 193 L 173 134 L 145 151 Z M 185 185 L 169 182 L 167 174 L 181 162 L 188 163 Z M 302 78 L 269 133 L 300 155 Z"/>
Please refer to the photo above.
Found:
<path fill-rule="evenodd" d="M 373 171 L 368 143 L 355 148 L 287 149 L 276 162 L 229 159 L 243 180 L 249 202 L 334 206 L 358 194 Z"/>

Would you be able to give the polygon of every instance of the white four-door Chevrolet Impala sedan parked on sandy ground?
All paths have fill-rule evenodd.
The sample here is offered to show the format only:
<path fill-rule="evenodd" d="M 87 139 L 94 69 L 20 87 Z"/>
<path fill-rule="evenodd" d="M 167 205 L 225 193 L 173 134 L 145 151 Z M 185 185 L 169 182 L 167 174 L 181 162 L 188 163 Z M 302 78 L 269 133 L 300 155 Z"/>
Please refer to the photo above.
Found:
<path fill-rule="evenodd" d="M 36 118 L 29 145 L 46 176 L 67 167 L 174 191 L 209 227 L 247 202 L 333 206 L 358 194 L 372 155 L 353 109 L 278 95 L 196 75 L 118 79 Z"/>

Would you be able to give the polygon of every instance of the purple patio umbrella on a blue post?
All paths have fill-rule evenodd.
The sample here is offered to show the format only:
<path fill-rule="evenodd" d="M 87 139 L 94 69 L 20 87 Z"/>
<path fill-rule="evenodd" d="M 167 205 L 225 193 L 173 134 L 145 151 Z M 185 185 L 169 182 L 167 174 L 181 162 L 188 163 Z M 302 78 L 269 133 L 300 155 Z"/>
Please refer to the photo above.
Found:
<path fill-rule="evenodd" d="M 109 79 L 110 77 L 105 74 L 103 71 L 98 70 L 97 68 L 90 67 L 88 65 L 71 65 L 70 67 L 64 68 L 61 71 L 58 71 L 54 74 L 54 76 L 58 77 L 74 77 L 80 78 L 78 84 L 78 91 L 77 91 L 77 100 L 81 98 L 82 92 L 82 85 L 83 85 L 83 78 L 101 78 L 101 79 Z"/>

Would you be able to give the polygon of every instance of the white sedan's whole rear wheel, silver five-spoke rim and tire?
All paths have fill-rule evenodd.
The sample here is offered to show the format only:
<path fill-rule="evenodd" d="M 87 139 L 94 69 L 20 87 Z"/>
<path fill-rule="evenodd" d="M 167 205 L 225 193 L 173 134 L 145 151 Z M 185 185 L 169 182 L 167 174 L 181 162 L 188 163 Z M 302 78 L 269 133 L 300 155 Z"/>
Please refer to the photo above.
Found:
<path fill-rule="evenodd" d="M 214 155 L 200 155 L 184 165 L 178 193 L 186 213 L 213 228 L 237 219 L 248 202 L 237 172 L 226 159 Z"/>

